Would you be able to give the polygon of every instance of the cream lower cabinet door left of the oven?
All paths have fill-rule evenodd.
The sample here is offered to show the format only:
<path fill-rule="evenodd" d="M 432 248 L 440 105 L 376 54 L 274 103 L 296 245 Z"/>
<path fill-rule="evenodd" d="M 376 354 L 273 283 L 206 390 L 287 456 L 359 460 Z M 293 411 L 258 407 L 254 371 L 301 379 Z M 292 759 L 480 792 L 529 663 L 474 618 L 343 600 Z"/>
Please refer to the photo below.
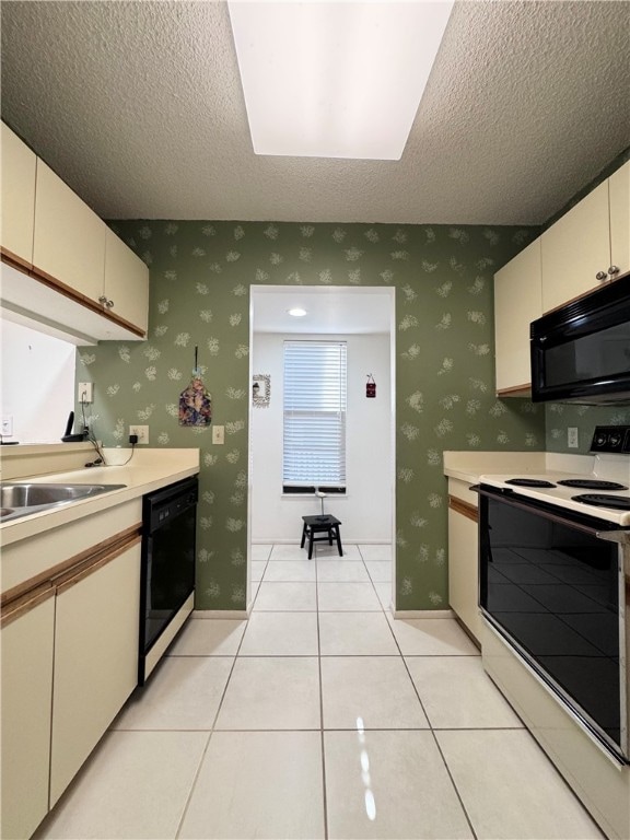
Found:
<path fill-rule="evenodd" d="M 477 522 L 451 509 L 448 511 L 448 603 L 477 641 L 480 641 L 478 546 Z"/>

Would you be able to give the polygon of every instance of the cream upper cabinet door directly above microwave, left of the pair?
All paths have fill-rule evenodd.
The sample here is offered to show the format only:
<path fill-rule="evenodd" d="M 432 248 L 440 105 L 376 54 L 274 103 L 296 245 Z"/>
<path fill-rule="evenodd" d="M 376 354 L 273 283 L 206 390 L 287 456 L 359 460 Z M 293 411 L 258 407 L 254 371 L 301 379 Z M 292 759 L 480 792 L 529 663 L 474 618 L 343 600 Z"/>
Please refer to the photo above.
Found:
<path fill-rule="evenodd" d="M 549 312 L 602 284 L 608 279 L 610 223 L 608 182 L 605 180 L 579 205 L 551 225 L 542 240 L 542 310 Z"/>

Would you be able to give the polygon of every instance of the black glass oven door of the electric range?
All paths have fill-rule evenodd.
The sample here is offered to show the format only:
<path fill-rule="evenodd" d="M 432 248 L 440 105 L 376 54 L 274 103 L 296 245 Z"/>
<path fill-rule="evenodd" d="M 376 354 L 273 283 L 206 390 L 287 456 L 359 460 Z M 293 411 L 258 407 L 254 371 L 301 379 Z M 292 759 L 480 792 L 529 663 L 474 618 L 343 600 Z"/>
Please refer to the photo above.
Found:
<path fill-rule="evenodd" d="M 618 532 L 514 492 L 479 492 L 482 614 L 582 725 L 629 762 Z"/>

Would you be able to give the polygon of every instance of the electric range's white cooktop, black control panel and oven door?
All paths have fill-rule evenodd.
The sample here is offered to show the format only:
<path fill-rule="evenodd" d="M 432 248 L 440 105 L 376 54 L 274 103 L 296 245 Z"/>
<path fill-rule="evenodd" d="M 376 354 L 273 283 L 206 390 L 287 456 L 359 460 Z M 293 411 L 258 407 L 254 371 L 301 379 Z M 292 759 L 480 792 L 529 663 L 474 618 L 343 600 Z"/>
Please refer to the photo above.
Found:
<path fill-rule="evenodd" d="M 481 476 L 482 615 L 599 745 L 630 765 L 630 427 L 590 475 Z"/>

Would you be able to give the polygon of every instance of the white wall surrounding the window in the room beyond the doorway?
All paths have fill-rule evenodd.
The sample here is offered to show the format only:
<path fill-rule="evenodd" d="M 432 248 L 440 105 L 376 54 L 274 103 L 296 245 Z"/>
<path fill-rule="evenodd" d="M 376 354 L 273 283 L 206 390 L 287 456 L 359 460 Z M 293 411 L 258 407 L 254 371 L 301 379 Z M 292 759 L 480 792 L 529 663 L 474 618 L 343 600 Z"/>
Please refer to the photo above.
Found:
<path fill-rule="evenodd" d="M 282 495 L 282 343 L 285 339 L 348 342 L 347 494 L 329 495 L 325 513 L 341 520 L 341 540 L 392 541 L 392 387 L 388 335 L 306 336 L 256 332 L 254 374 L 270 374 L 269 408 L 252 410 L 252 541 L 299 542 L 302 516 L 320 512 L 313 497 Z M 365 397 L 368 374 L 376 398 Z"/>

